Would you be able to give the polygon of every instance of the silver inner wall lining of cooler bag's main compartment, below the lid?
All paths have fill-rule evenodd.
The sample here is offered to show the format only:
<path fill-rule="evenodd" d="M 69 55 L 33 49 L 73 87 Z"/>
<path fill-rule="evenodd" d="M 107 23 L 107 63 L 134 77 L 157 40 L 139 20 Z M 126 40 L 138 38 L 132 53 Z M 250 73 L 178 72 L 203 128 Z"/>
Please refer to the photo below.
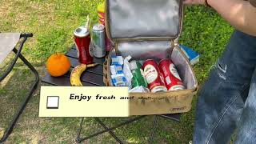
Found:
<path fill-rule="evenodd" d="M 162 58 L 170 58 L 174 62 L 186 90 L 195 89 L 197 80 L 194 77 L 194 72 L 190 67 L 190 63 L 184 58 L 182 53 L 182 50 L 180 50 L 178 46 L 175 46 L 171 51 L 170 42 L 167 41 L 119 42 L 117 52 L 118 55 L 122 55 L 124 58 L 130 55 L 132 59 L 139 61 L 154 59 L 156 62 L 159 62 Z M 116 53 L 113 50 L 111 55 L 115 54 Z M 110 82 L 110 85 L 113 86 L 113 83 Z"/>

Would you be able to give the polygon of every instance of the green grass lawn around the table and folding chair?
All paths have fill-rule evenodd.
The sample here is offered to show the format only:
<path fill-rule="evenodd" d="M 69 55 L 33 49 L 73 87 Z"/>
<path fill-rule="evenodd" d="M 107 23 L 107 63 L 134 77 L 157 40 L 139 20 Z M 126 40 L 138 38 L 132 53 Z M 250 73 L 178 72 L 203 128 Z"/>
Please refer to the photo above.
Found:
<path fill-rule="evenodd" d="M 23 54 L 36 67 L 40 76 L 46 74 L 46 59 L 54 52 L 65 53 L 73 44 L 72 32 L 85 21 L 90 14 L 97 22 L 96 6 L 101 0 L 1 0 L 0 32 L 32 32 L 34 38 L 26 42 Z M 194 66 L 200 86 L 206 80 L 210 67 L 226 46 L 233 28 L 222 18 L 204 6 L 187 6 L 180 42 L 194 48 L 201 54 L 200 62 Z M 13 57 L 14 55 L 10 55 Z M 6 63 L 8 60 L 6 60 Z M 0 66 L 0 74 L 6 69 Z M 0 83 L 0 135 L 6 129 L 11 114 L 17 110 L 22 95 L 26 94 L 33 74 L 18 61 L 14 70 Z M 44 84 L 45 85 L 45 84 Z M 39 88 L 38 88 L 39 89 Z M 18 120 L 13 134 L 6 143 L 74 143 L 79 118 L 38 118 L 39 90 L 31 98 L 22 117 Z M 197 96 L 193 100 L 193 109 L 182 114 L 181 122 L 158 118 L 155 143 L 188 143 L 192 139 L 194 113 Z M 105 118 L 109 126 L 125 118 Z M 154 117 L 150 116 L 133 125 L 115 130 L 126 142 L 146 143 Z M 82 134 L 100 130 L 93 118 L 86 118 Z M 90 139 L 87 142 L 114 143 L 110 134 Z"/>

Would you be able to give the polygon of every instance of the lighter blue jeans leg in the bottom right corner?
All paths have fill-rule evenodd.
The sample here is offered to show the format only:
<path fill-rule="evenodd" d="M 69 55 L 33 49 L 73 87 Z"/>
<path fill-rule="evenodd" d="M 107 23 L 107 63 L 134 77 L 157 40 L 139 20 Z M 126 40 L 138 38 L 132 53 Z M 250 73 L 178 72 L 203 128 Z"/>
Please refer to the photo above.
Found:
<path fill-rule="evenodd" d="M 256 142 L 256 69 L 250 82 L 250 91 L 238 122 L 238 134 L 235 143 L 250 144 Z"/>

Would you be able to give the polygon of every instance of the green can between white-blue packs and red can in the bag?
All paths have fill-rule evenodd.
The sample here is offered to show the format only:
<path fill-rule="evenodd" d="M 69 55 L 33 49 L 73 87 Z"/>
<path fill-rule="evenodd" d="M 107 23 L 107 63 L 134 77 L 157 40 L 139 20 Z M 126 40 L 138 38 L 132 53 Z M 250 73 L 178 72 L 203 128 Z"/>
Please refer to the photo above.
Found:
<path fill-rule="evenodd" d="M 130 62 L 130 70 L 133 74 L 133 78 L 131 79 L 131 86 L 132 88 L 137 86 L 143 86 L 147 88 L 147 83 L 144 78 L 143 70 L 142 70 L 142 64 L 136 61 Z"/>

